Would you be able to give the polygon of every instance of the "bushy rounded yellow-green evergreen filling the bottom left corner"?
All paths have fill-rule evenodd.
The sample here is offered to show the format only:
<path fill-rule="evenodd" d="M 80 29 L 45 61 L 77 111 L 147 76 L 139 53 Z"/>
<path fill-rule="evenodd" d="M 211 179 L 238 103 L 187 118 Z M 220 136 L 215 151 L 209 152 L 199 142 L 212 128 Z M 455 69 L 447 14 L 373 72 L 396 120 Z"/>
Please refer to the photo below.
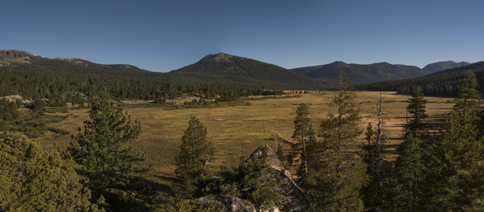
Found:
<path fill-rule="evenodd" d="M 0 211 L 99 211 L 73 165 L 26 136 L 7 137 L 0 142 Z"/>

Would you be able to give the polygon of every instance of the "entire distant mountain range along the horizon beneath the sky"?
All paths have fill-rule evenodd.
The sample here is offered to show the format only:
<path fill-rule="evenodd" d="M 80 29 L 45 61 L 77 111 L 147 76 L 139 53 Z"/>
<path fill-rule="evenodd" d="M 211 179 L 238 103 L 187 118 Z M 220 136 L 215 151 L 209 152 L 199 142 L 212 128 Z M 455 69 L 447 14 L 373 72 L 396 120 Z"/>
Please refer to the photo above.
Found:
<path fill-rule="evenodd" d="M 163 80 L 173 83 L 216 83 L 265 89 L 325 89 L 337 82 L 343 72 L 353 83 L 373 83 L 382 80 L 401 80 L 428 75 L 446 67 L 458 67 L 466 62 L 438 62 L 418 68 L 411 65 L 373 63 L 347 64 L 341 61 L 295 69 L 226 53 L 206 55 L 197 63 L 169 73 L 142 70 L 133 65 L 101 65 L 76 58 L 43 58 L 18 50 L 0 50 L 0 67 L 19 70 L 40 70 L 53 73 L 85 73 L 121 75 L 133 78 Z M 457 66 L 456 66 L 457 65 Z"/>

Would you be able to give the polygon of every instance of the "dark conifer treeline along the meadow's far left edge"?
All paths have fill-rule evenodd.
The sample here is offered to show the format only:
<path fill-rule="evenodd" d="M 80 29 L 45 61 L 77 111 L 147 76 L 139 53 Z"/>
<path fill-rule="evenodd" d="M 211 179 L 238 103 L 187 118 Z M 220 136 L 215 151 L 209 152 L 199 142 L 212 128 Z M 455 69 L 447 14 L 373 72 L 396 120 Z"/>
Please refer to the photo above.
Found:
<path fill-rule="evenodd" d="M 184 95 L 206 100 L 232 101 L 249 95 L 283 95 L 282 90 L 261 90 L 220 84 L 179 84 L 116 75 L 0 70 L 0 96 L 21 95 L 26 100 L 48 99 L 50 106 L 80 104 L 107 90 L 121 100 L 175 99 Z"/>

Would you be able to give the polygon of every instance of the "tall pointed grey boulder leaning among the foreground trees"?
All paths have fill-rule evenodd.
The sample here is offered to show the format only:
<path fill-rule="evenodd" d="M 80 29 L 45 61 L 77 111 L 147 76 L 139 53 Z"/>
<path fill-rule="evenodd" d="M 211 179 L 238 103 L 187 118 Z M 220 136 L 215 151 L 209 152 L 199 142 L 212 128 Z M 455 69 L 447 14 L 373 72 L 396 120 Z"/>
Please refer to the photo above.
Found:
<path fill-rule="evenodd" d="M 259 147 L 256 152 L 251 154 L 251 159 L 258 160 L 263 156 L 262 148 L 268 148 L 267 163 L 278 171 L 284 184 L 280 187 L 282 190 L 281 204 L 279 207 L 280 211 L 308 211 L 307 206 L 309 206 L 309 201 L 307 201 L 307 196 L 305 192 L 295 183 L 293 177 L 288 170 L 285 169 L 283 164 L 280 163 L 279 157 L 275 154 L 274 150 L 268 145 Z"/>

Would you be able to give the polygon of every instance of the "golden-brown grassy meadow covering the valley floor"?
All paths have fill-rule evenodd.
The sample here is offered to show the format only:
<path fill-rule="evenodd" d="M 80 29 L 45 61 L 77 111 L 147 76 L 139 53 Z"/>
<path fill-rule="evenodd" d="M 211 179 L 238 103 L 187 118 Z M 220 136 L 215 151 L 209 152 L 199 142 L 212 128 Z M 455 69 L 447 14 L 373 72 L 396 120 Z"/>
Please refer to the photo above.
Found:
<path fill-rule="evenodd" d="M 357 102 L 362 108 L 361 127 L 366 127 L 368 122 L 374 122 L 374 105 L 379 97 L 379 92 L 357 92 Z M 384 111 L 386 112 L 386 124 L 391 139 L 389 147 L 389 161 L 394 161 L 397 155 L 396 147 L 402 142 L 404 134 L 403 125 L 406 122 L 406 103 L 409 95 L 396 95 L 395 92 L 383 92 Z M 237 164 L 239 158 L 245 154 L 251 154 L 263 144 L 269 144 L 273 149 L 277 148 L 278 141 L 269 139 L 277 135 L 285 140 L 293 142 L 290 138 L 293 134 L 293 120 L 296 107 L 300 103 L 310 105 L 312 120 L 315 129 L 319 129 L 319 122 L 326 117 L 327 112 L 334 111 L 327 106 L 331 101 L 332 92 L 312 92 L 302 94 L 300 97 L 275 98 L 265 100 L 251 100 L 248 105 L 228 106 L 218 108 L 164 110 L 161 107 L 133 107 L 125 111 L 131 115 L 132 120 L 140 120 L 142 134 L 133 144 L 136 149 L 147 152 L 149 162 L 154 164 L 155 169 L 151 174 L 144 176 L 147 181 L 156 184 L 160 191 L 169 192 L 169 184 L 174 181 L 174 156 L 179 151 L 180 138 L 188 127 L 190 116 L 196 116 L 205 125 L 208 137 L 216 148 L 216 163 Z M 186 99 L 188 100 L 188 99 Z M 448 97 L 426 97 L 428 122 L 433 127 L 443 127 L 445 113 L 453 104 L 446 103 L 453 100 Z M 184 102 L 179 99 L 177 102 Z M 66 120 L 59 123 L 48 124 L 77 134 L 78 127 L 83 127 L 83 121 L 88 120 L 88 110 L 69 110 Z M 66 115 L 59 114 L 59 115 Z M 363 139 L 364 135 L 362 136 Z M 52 149 L 53 143 L 57 147 L 65 149 L 70 142 L 70 135 L 56 139 L 38 139 L 44 149 Z M 290 151 L 289 144 L 283 144 L 286 151 Z"/>

